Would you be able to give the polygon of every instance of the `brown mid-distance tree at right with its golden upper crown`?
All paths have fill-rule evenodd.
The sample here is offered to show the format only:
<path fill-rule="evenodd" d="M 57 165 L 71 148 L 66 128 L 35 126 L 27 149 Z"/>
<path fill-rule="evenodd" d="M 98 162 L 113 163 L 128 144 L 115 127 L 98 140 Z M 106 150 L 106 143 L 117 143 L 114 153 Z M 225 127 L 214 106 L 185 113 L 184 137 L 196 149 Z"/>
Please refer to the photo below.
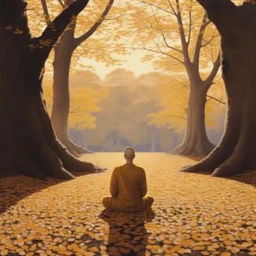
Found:
<path fill-rule="evenodd" d="M 207 138 L 204 109 L 220 65 L 216 28 L 192 0 L 132 0 L 127 10 L 131 32 L 123 35 L 132 40 L 130 48 L 146 50 L 145 61 L 164 71 L 186 73 L 189 79 L 186 133 L 171 153 L 207 155 L 214 145 Z"/>

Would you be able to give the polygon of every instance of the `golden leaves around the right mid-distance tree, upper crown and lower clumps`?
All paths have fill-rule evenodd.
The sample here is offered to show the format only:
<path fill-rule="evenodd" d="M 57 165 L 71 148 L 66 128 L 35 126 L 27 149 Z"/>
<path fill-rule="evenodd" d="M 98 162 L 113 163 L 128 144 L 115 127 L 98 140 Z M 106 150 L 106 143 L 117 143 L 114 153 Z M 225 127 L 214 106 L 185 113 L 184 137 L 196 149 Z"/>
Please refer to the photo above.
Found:
<path fill-rule="evenodd" d="M 219 32 L 197 1 L 132 0 L 125 3 L 131 15 L 125 21 L 125 31 L 120 29 L 121 35 L 127 38 L 124 47 L 146 51 L 144 61 L 153 62 L 157 70 L 168 74 L 158 78 L 161 109 L 151 115 L 150 124 L 180 132 L 186 127 L 190 88 L 199 86 L 192 84 L 192 77 L 198 76 L 198 81 L 204 81 L 213 76 L 220 50 Z M 216 126 L 212 118 L 213 106 L 225 105 L 222 80 L 215 77 L 214 83 L 206 106 L 206 122 L 210 127 Z"/>

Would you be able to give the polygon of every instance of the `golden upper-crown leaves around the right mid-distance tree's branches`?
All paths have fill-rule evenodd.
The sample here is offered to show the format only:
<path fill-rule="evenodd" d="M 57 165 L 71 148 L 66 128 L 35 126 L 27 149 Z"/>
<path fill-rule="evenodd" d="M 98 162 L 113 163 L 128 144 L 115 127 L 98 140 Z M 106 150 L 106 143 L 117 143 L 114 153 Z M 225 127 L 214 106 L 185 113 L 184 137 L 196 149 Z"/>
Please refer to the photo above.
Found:
<path fill-rule="evenodd" d="M 219 34 L 213 23 L 204 18 L 204 9 L 197 1 L 132 0 L 126 2 L 129 15 L 126 30 L 132 49 L 147 50 L 144 61 L 153 61 L 157 69 L 168 72 L 186 72 L 182 33 L 187 42 L 189 58 L 194 59 L 198 37 L 203 34 L 199 70 L 204 73 L 219 54 Z M 182 23 L 177 18 L 180 13 Z M 201 26 L 205 29 L 200 31 Z M 181 26 L 183 31 L 180 30 Z"/>

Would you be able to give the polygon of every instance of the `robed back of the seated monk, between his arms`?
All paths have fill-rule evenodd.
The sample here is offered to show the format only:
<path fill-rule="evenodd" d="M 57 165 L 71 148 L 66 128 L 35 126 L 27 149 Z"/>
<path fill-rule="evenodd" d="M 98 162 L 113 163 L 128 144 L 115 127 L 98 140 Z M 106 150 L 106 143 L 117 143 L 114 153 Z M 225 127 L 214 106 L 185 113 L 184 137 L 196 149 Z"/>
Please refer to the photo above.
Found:
<path fill-rule="evenodd" d="M 144 182 L 144 169 L 136 165 L 121 165 L 115 169 L 118 180 L 118 198 L 128 204 L 138 204 L 144 195 L 141 195 L 141 186 Z"/>

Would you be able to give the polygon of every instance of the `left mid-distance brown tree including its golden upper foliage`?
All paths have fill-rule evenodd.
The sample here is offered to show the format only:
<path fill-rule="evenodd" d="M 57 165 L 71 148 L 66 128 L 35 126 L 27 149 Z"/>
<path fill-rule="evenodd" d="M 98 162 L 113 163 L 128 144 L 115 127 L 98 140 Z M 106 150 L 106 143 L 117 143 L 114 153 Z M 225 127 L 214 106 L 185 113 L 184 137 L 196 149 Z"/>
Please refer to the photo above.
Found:
<path fill-rule="evenodd" d="M 41 7 L 38 6 L 38 1 L 32 0 L 31 6 L 43 11 L 43 16 L 46 24 L 49 24 L 58 10 L 64 9 L 73 0 L 47 1 L 41 0 Z M 83 67 L 79 59 L 82 56 L 86 58 L 94 58 L 97 61 L 105 61 L 106 64 L 118 63 L 118 60 L 112 58 L 112 49 L 106 46 L 106 42 L 111 40 L 111 28 L 108 28 L 109 35 L 104 34 L 99 37 L 102 32 L 99 30 L 100 25 L 106 21 L 106 16 L 112 8 L 114 0 L 99 1 L 94 0 L 90 4 L 89 16 L 80 16 L 79 19 L 74 19 L 68 25 L 64 34 L 54 47 L 53 58 L 53 105 L 52 105 L 52 124 L 59 140 L 67 147 L 74 156 L 79 156 L 79 153 L 91 153 L 88 150 L 82 149 L 78 145 L 70 141 L 67 134 L 68 115 L 70 112 L 70 94 L 69 94 L 69 74 L 70 70 L 77 66 Z M 52 12 L 49 12 L 51 6 Z M 106 29 L 106 27 L 105 27 Z M 97 37 L 91 38 L 97 34 Z M 114 61 L 115 60 L 115 61 Z"/>

